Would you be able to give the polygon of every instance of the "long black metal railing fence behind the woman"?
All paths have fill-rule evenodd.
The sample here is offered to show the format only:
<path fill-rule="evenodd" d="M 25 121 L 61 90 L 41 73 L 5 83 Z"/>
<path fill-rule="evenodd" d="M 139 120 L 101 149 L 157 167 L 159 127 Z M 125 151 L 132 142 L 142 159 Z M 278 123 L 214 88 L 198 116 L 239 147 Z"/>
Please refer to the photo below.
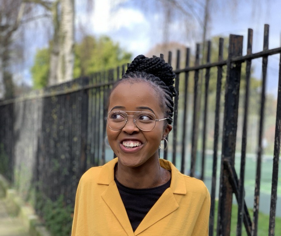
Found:
<path fill-rule="evenodd" d="M 206 64 L 200 64 L 199 44 L 196 46 L 193 66 L 190 49 L 186 50 L 183 66 L 181 52 L 176 53 L 175 86 L 179 95 L 175 97 L 174 123 L 168 150 L 161 152 L 161 157 L 171 160 L 181 172 L 209 183 L 209 235 L 214 234 L 214 228 L 216 235 L 230 235 L 233 194 L 238 204 L 236 234 L 242 234 L 244 224 L 247 235 L 257 235 L 267 64 L 269 56 L 281 53 L 281 48 L 268 49 L 268 31 L 269 26 L 265 25 L 263 50 L 259 53 L 252 53 L 253 32 L 250 29 L 244 56 L 243 37 L 238 35 L 230 35 L 226 60 L 223 57 L 222 38 L 216 62 L 210 61 L 211 42 L 208 42 Z M 257 58 L 262 58 L 262 85 L 258 93 L 258 124 L 255 126 L 258 129 L 258 143 L 253 158 L 256 180 L 252 184 L 251 218 L 245 201 L 247 190 L 244 183 L 246 161 L 249 160 L 247 139 L 252 132 L 249 130 L 249 107 L 254 105 L 250 100 L 251 62 Z M 172 53 L 165 59 L 172 63 Z M 113 152 L 104 142 L 107 96 L 124 71 L 125 66 L 118 67 L 0 103 L 0 170 L 27 200 L 33 198 L 31 193 L 35 190 L 52 200 L 63 194 L 66 202 L 73 205 L 76 187 L 83 172 L 113 158 Z M 245 78 L 241 77 L 242 73 Z M 240 83 L 241 79 L 245 87 Z M 215 85 L 212 93 L 210 82 Z M 280 64 L 276 93 L 277 90 L 274 149 L 269 150 L 273 171 L 268 235 L 275 235 L 281 131 Z M 240 91 L 243 91 L 243 96 Z M 223 103 L 224 106 L 221 106 Z M 211 105 L 213 107 L 210 108 Z M 239 120 L 242 122 L 239 123 Z M 240 139 L 237 132 L 241 132 Z M 240 144 L 241 149 L 237 151 L 236 145 Z M 236 162 L 240 162 L 238 168 L 235 166 L 235 157 Z M 216 196 L 219 197 L 217 225 L 214 223 Z"/>

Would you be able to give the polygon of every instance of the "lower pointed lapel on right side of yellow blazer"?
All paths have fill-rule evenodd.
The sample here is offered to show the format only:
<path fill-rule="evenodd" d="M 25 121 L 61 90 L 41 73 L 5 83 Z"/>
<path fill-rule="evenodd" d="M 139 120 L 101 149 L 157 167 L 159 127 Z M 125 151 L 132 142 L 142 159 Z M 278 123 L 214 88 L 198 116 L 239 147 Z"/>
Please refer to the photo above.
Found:
<path fill-rule="evenodd" d="M 176 202 L 172 189 L 166 189 L 166 191 L 161 195 L 158 201 L 143 218 L 142 222 L 135 230 L 135 235 L 140 234 L 142 231 L 146 230 L 157 221 L 163 219 L 165 216 L 168 216 L 170 213 L 178 209 L 178 207 L 179 205 Z"/>

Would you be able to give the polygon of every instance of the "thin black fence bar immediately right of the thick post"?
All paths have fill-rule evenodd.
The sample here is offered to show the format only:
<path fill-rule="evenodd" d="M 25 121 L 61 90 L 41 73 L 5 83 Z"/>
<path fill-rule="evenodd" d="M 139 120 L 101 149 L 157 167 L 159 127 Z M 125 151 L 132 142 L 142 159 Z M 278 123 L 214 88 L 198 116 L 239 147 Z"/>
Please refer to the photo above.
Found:
<path fill-rule="evenodd" d="M 253 44 L 253 30 L 248 30 L 248 43 L 247 54 L 252 53 Z M 250 96 L 250 78 L 251 78 L 251 60 L 247 60 L 246 63 L 246 88 L 245 88 L 245 107 L 244 107 L 244 121 L 243 121 L 243 133 L 242 133 L 242 148 L 241 148 L 241 163 L 240 163 L 240 180 L 239 180 L 239 194 L 238 194 L 238 216 L 237 216 L 237 228 L 236 235 L 242 234 L 242 223 L 244 216 L 244 178 L 245 178 L 245 164 L 246 164 L 246 147 L 247 147 L 247 124 L 248 124 L 248 104 Z M 247 230 L 248 232 L 248 230 Z M 250 235 L 250 234 L 248 234 Z"/>

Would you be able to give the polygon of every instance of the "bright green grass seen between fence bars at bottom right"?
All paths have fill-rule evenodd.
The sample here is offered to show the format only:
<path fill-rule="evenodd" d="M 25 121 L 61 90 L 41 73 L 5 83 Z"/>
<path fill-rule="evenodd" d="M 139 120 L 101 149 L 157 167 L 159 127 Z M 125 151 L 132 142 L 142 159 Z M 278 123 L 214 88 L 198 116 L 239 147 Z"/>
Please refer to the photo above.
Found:
<path fill-rule="evenodd" d="M 214 235 L 216 235 L 217 205 L 218 205 L 218 202 L 216 201 Z M 251 220 L 253 220 L 253 210 L 248 209 L 248 211 L 249 211 Z M 237 213 L 238 213 L 238 205 L 233 204 L 232 211 L 231 211 L 231 232 L 230 232 L 231 236 L 236 236 Z M 269 215 L 259 212 L 257 235 L 258 236 L 268 235 L 268 226 L 269 226 Z M 247 235 L 244 225 L 242 227 L 242 235 L 243 236 Z M 281 236 L 281 217 L 275 218 L 275 236 Z"/>

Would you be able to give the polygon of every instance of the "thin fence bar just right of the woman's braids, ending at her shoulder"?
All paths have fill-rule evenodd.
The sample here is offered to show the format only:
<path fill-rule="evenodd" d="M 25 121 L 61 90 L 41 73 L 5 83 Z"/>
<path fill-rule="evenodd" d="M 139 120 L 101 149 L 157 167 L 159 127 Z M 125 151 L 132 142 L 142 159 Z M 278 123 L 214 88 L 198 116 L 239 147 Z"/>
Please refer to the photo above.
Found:
<path fill-rule="evenodd" d="M 179 69 L 180 65 L 180 51 L 177 50 L 177 64 L 176 68 Z M 179 104 L 179 74 L 176 74 L 175 89 L 177 95 L 174 97 L 174 118 L 173 118 L 173 156 L 172 162 L 176 165 L 176 147 L 177 147 L 177 133 L 178 133 L 178 104 Z"/>

